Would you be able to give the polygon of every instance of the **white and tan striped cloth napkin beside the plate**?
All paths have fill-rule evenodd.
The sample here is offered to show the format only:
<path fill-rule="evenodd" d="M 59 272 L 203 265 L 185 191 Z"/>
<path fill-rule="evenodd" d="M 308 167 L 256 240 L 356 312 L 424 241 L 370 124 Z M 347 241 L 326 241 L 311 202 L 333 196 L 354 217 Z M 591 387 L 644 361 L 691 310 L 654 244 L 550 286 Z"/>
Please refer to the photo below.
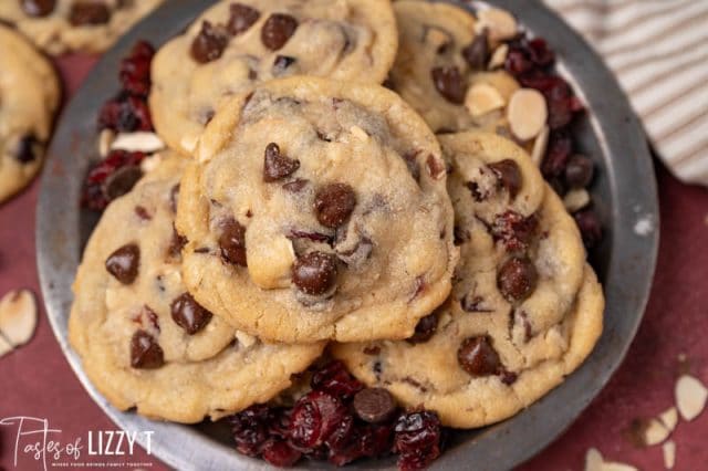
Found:
<path fill-rule="evenodd" d="M 544 0 L 604 56 L 659 157 L 708 186 L 708 0 Z"/>

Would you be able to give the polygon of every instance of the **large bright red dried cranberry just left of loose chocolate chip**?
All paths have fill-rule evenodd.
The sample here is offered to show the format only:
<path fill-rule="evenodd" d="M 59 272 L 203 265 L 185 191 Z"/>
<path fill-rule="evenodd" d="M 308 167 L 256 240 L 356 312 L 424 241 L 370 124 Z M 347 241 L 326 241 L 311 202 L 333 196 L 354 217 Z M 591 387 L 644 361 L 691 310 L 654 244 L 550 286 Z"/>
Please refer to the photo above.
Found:
<path fill-rule="evenodd" d="M 326 442 L 348 414 L 334 396 L 311 391 L 301 397 L 292 409 L 290 442 L 299 450 L 314 450 Z"/>

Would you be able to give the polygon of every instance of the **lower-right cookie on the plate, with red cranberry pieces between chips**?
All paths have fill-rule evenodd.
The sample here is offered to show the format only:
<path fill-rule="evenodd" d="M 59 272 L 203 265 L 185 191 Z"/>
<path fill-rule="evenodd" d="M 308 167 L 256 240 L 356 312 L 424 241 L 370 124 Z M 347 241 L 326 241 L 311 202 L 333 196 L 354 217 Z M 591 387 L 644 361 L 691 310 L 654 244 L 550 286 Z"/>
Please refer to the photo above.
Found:
<path fill-rule="evenodd" d="M 475 428 L 528 407 L 582 364 L 602 332 L 604 297 L 573 220 L 521 148 L 478 132 L 440 144 L 466 237 L 435 328 L 424 317 L 431 334 L 415 342 L 332 353 L 400 404 Z"/>

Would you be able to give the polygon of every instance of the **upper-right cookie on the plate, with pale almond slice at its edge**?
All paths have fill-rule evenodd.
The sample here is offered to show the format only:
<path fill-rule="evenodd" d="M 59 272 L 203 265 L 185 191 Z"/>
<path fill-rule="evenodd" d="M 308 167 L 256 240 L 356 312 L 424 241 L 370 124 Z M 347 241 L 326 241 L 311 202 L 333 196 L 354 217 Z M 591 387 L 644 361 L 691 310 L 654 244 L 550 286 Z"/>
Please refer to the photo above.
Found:
<path fill-rule="evenodd" d="M 436 133 L 508 129 L 504 108 L 519 84 L 503 70 L 488 70 L 494 43 L 477 19 L 423 0 L 397 1 L 394 12 L 399 49 L 391 87 Z"/>

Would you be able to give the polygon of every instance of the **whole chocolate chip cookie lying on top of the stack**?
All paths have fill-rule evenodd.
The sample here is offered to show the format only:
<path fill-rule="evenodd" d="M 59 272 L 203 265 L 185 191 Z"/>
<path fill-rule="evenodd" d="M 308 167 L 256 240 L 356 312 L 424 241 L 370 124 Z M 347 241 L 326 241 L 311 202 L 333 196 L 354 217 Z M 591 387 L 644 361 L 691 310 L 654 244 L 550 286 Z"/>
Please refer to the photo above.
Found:
<path fill-rule="evenodd" d="M 450 290 L 446 167 L 378 85 L 272 81 L 226 104 L 181 181 L 183 274 L 259 337 L 405 338 Z"/>

